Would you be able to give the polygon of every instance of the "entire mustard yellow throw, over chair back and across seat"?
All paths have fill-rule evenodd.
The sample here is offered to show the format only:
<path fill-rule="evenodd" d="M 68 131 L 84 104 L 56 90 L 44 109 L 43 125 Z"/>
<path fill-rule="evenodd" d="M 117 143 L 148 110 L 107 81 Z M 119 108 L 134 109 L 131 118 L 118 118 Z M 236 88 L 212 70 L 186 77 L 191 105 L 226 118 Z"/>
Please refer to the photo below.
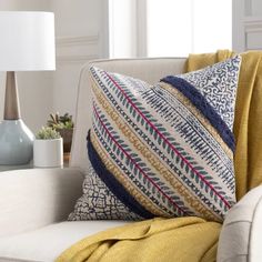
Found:
<path fill-rule="evenodd" d="M 192 54 L 187 71 L 232 57 L 228 50 Z M 238 199 L 262 183 L 262 52 L 242 54 L 235 109 Z M 66 250 L 57 262 L 215 261 L 221 224 L 199 218 L 153 219 L 88 236 Z"/>

